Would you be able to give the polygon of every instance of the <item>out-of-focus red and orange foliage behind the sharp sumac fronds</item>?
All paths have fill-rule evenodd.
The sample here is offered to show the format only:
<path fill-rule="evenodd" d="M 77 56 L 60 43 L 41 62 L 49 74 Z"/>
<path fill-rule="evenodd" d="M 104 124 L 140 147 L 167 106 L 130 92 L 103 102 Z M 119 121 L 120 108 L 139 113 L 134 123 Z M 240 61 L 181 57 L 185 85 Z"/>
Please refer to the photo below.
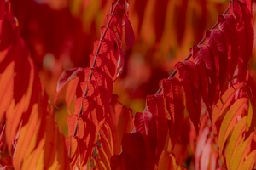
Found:
<path fill-rule="evenodd" d="M 89 66 L 93 42 L 100 37 L 113 0 L 10 0 L 20 35 L 38 66 L 39 76 L 53 103 L 62 71 Z M 255 2 L 253 3 L 254 8 Z M 125 71 L 114 83 L 114 94 L 133 111 L 143 111 L 147 94 L 168 77 L 189 48 L 201 41 L 229 6 L 225 0 L 130 0 L 135 43 L 125 52 Z M 255 11 L 255 10 L 254 10 Z M 255 18 L 255 13 L 253 13 Z M 254 22 L 255 27 L 255 22 Z M 255 43 L 249 69 L 256 69 Z M 65 91 L 55 107 L 56 121 L 67 136 Z"/>

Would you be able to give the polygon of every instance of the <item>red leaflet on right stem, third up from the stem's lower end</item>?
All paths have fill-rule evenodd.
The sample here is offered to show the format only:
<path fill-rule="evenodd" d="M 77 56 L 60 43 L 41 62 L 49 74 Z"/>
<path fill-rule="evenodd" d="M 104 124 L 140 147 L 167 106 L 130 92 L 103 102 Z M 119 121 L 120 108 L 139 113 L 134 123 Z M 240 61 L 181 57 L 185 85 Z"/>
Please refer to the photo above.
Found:
<path fill-rule="evenodd" d="M 173 77 L 161 80 L 160 87 L 166 100 L 166 118 L 173 149 L 183 126 L 183 89 L 177 78 Z"/>

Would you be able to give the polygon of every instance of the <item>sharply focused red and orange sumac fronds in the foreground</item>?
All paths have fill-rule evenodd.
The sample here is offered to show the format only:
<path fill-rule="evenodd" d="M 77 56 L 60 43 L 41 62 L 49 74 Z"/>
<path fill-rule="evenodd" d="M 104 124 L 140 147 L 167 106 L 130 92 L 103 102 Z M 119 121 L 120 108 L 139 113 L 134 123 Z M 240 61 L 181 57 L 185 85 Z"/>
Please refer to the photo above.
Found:
<path fill-rule="evenodd" d="M 65 139 L 20 37 L 7 0 L 0 0 L 1 169 L 253 169 L 256 168 L 252 1 L 231 1 L 212 29 L 178 62 L 143 112 L 113 94 L 135 40 L 129 3 L 117 0 L 94 42 L 89 67 L 64 71 Z M 190 149 L 183 139 L 189 139 Z M 180 161 L 183 150 L 191 156 Z"/>

